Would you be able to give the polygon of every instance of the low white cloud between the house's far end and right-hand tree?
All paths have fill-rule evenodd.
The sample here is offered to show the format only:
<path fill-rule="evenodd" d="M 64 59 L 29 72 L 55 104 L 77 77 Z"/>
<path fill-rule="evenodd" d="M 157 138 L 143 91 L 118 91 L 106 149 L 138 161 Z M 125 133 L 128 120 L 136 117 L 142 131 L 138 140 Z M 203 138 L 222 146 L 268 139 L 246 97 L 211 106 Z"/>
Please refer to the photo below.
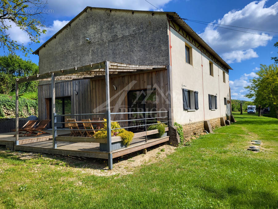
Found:
<path fill-rule="evenodd" d="M 250 85 L 249 80 L 256 77 L 255 72 L 244 73 L 239 79 L 229 80 L 231 88 L 231 98 L 239 100 L 251 100 L 244 95 L 248 93 L 248 90 L 244 87 Z"/>

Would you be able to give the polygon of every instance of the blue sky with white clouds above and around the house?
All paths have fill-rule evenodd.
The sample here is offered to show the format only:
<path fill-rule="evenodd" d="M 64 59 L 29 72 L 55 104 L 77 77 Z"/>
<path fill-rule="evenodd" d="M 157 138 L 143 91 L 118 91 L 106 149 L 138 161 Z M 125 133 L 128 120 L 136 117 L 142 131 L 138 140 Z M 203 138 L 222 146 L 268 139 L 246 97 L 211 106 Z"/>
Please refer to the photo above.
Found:
<path fill-rule="evenodd" d="M 278 31 L 277 1 L 195 1 L 195 0 L 148 0 L 163 11 L 175 11 L 182 18 L 213 22 L 239 27 L 256 28 L 266 31 Z M 48 0 L 46 9 L 46 35 L 41 36 L 41 43 L 31 44 L 35 51 L 44 41 L 62 28 L 86 6 L 109 7 L 133 10 L 157 10 L 145 0 Z M 232 99 L 249 100 L 244 97 L 249 79 L 255 76 L 260 64 L 272 64 L 270 57 L 277 56 L 278 49 L 273 45 L 277 38 L 231 31 L 204 24 L 186 21 L 229 65 L 229 80 Z M 224 26 L 225 27 L 225 26 Z M 278 33 L 239 29 L 252 33 L 278 37 Z M 19 43 L 29 45 L 28 37 L 18 28 L 10 30 L 10 36 Z M 3 54 L 2 49 L 0 53 Z M 18 55 L 22 55 L 18 53 Z M 23 57 L 23 56 L 22 56 Z M 24 58 L 23 58 L 24 59 Z M 26 59 L 39 62 L 39 56 L 30 55 Z"/>

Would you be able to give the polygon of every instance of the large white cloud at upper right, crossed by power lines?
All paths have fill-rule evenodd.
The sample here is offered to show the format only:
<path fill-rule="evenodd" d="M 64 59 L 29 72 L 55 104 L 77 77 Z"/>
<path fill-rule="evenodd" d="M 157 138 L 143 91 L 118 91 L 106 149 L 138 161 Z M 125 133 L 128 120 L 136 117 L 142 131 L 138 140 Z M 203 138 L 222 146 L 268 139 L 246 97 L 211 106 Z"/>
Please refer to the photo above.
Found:
<path fill-rule="evenodd" d="M 266 0 L 254 1 L 247 4 L 241 10 L 231 10 L 223 18 L 215 20 L 215 23 L 239 27 L 257 28 L 273 31 L 278 28 L 278 2 L 270 7 L 265 6 Z M 227 26 L 220 26 L 227 27 Z M 261 35 L 276 35 L 271 32 L 255 31 L 243 28 L 231 29 L 247 31 Z M 261 36 L 224 28 L 207 26 L 200 36 L 228 63 L 241 62 L 242 60 L 258 57 L 254 48 L 266 46 L 272 37 Z"/>

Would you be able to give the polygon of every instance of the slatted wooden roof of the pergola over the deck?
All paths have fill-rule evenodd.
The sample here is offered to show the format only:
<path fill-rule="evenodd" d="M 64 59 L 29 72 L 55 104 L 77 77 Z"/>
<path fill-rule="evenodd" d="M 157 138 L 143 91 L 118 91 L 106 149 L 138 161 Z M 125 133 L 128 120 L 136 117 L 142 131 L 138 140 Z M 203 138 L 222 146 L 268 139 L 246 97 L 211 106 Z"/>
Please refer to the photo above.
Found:
<path fill-rule="evenodd" d="M 35 80 L 51 80 L 54 74 L 55 80 L 79 80 L 79 79 L 100 79 L 105 77 L 105 62 L 74 67 L 65 70 L 57 70 L 34 76 L 17 78 L 18 83 L 25 83 Z M 108 62 L 109 76 L 120 76 L 134 73 L 144 73 L 167 69 L 166 65 L 133 65 L 117 62 Z"/>

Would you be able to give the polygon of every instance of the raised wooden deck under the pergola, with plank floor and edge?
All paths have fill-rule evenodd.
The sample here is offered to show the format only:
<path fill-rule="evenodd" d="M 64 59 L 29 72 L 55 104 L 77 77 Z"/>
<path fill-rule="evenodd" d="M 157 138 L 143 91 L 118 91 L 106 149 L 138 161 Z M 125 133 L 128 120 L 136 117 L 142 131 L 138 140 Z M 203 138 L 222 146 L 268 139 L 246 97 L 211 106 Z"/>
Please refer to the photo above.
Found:
<path fill-rule="evenodd" d="M 51 132 L 51 130 L 47 131 L 49 133 Z M 69 133 L 67 130 L 57 131 L 58 135 L 60 136 Z M 9 149 L 28 152 L 108 159 L 109 153 L 100 151 L 99 143 L 58 141 L 57 148 L 53 149 L 52 135 L 43 135 L 39 137 L 19 137 L 19 145 L 14 145 L 15 137 L 13 137 L 13 135 L 14 133 L 0 134 L 0 145 L 6 145 L 6 148 Z M 112 158 L 117 158 L 122 155 L 142 150 L 166 141 L 169 141 L 169 136 L 158 139 L 152 139 L 148 137 L 147 142 L 145 142 L 145 137 L 138 137 L 133 139 L 128 147 L 112 151 Z"/>

